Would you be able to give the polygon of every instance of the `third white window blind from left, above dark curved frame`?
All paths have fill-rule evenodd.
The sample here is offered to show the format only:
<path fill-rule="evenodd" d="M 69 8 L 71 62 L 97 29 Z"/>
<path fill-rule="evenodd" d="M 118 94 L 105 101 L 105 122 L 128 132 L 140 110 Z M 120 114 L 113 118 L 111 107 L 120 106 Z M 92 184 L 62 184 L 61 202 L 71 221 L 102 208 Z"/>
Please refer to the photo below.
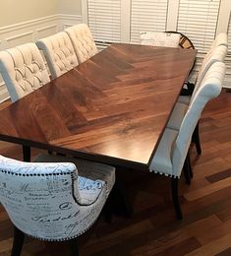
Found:
<path fill-rule="evenodd" d="M 220 0 L 180 0 L 177 31 L 186 34 L 198 50 L 198 64 L 216 32 Z"/>

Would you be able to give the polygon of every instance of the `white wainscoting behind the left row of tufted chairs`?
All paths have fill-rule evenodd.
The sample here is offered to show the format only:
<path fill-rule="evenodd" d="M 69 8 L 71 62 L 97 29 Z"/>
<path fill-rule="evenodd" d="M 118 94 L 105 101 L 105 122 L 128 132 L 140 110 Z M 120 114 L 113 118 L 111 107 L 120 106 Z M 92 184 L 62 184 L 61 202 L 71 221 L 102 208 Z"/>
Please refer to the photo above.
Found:
<path fill-rule="evenodd" d="M 82 23 L 82 16 L 57 14 L 43 17 L 0 28 L 0 50 L 15 47 L 17 45 L 35 42 L 43 38 L 63 31 L 64 29 Z M 7 89 L 0 76 L 0 102 L 9 98 Z"/>

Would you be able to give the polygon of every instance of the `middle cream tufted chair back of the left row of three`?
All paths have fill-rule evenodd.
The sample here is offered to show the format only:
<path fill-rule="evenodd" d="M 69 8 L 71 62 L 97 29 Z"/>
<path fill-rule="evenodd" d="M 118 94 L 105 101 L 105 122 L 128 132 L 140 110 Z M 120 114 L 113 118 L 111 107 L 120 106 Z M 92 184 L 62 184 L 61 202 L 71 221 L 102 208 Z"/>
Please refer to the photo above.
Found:
<path fill-rule="evenodd" d="M 37 47 L 43 51 L 52 79 L 61 76 L 79 62 L 72 42 L 66 32 L 58 32 L 36 41 Z"/>

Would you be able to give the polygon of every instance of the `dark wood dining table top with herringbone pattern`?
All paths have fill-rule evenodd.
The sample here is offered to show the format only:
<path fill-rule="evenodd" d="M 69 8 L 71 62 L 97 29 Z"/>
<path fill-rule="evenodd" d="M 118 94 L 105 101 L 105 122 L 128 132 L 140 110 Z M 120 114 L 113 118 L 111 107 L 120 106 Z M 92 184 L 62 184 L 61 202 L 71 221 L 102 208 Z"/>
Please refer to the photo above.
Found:
<path fill-rule="evenodd" d="M 146 168 L 196 50 L 113 44 L 0 111 L 0 139 Z"/>

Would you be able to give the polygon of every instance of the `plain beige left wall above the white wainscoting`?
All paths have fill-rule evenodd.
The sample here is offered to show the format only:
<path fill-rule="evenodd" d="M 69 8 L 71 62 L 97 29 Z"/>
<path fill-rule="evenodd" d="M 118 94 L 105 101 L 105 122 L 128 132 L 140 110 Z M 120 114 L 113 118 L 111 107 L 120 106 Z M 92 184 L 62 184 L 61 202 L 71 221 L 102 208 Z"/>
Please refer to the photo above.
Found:
<path fill-rule="evenodd" d="M 0 0 L 0 28 L 57 14 L 58 0 Z"/>

